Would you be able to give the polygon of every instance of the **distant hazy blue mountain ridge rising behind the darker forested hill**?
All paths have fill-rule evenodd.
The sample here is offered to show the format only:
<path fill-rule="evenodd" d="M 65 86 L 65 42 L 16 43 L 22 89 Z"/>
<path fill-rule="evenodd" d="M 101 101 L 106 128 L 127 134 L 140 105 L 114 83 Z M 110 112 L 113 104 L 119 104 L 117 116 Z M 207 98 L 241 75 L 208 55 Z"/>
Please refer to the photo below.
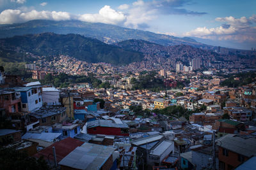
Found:
<path fill-rule="evenodd" d="M 81 34 L 86 37 L 99 39 L 105 43 L 116 43 L 127 39 L 143 39 L 160 45 L 179 45 L 183 43 L 195 47 L 205 46 L 191 38 L 178 38 L 150 31 L 129 29 L 118 25 L 81 22 L 79 20 L 31 20 L 20 24 L 0 25 L 0 38 L 42 32 Z"/>

